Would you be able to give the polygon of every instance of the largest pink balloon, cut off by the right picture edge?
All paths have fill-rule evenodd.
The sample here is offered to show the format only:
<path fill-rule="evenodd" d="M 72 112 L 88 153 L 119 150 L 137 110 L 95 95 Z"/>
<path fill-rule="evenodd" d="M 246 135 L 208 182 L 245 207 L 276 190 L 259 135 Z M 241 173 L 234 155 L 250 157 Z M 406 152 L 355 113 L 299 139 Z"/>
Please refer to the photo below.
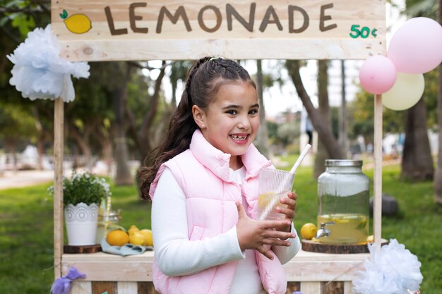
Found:
<path fill-rule="evenodd" d="M 396 31 L 388 58 L 400 73 L 426 73 L 442 62 L 442 26 L 431 18 L 411 18 Z"/>

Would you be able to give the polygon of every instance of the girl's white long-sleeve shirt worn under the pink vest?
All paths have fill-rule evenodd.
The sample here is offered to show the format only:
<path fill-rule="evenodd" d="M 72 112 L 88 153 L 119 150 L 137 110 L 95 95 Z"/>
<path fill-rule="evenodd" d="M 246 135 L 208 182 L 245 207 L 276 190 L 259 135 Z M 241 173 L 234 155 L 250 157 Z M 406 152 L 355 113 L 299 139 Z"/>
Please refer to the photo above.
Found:
<path fill-rule="evenodd" d="M 230 175 L 240 185 L 245 173 L 243 167 L 237 171 L 231 170 Z M 247 203 L 244 200 L 243 205 L 247 211 Z M 184 276 L 238 260 L 230 293 L 265 293 L 256 265 L 255 252 L 241 251 L 236 226 L 213 238 L 189 240 L 186 195 L 169 169 L 162 173 L 153 197 L 152 230 L 155 258 L 163 274 Z M 296 233 L 293 226 L 292 232 Z M 289 247 L 272 247 L 282 264 L 292 259 L 301 247 L 298 237 L 289 239 L 289 242 Z"/>

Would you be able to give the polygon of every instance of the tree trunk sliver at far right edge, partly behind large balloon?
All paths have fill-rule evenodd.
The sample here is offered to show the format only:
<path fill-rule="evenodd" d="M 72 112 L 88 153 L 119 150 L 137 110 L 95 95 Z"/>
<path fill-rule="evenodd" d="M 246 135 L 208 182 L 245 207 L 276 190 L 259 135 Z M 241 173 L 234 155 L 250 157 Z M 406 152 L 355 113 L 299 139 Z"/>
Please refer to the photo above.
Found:
<path fill-rule="evenodd" d="M 438 19 L 442 25 L 442 0 L 438 1 Z M 436 173 L 434 173 L 434 198 L 436 203 L 442 204 L 442 65 L 439 64 L 438 94 L 437 94 L 437 116 L 438 116 L 438 157 Z"/>

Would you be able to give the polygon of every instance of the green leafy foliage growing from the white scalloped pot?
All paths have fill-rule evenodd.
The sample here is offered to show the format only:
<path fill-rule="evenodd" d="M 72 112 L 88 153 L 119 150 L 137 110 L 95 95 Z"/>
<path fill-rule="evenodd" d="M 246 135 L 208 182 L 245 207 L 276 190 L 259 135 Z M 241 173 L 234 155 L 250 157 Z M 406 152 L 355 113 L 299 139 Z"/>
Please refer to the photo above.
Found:
<path fill-rule="evenodd" d="M 49 194 L 54 194 L 54 186 L 49 187 Z M 110 195 L 107 181 L 88 171 L 78 173 L 73 170 L 71 178 L 64 178 L 63 180 L 64 207 L 68 204 L 76 205 L 81 202 L 88 205 L 92 203 L 100 204 L 102 200 Z"/>

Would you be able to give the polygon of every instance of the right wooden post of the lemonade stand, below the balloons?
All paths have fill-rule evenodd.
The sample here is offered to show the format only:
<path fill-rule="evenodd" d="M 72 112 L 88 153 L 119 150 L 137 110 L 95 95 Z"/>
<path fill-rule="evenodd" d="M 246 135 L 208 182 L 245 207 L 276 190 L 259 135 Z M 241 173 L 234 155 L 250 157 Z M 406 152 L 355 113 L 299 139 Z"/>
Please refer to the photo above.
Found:
<path fill-rule="evenodd" d="M 382 95 L 374 99 L 374 197 L 373 236 L 381 244 L 382 228 Z"/>

